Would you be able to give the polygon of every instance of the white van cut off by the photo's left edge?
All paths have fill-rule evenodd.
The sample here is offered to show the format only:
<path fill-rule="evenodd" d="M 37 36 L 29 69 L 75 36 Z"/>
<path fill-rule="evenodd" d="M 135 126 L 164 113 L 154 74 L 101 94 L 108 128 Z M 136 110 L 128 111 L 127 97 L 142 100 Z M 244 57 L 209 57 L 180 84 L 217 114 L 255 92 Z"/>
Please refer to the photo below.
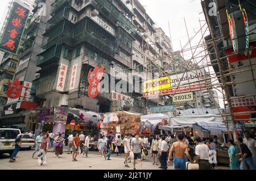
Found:
<path fill-rule="evenodd" d="M 15 138 L 21 134 L 19 129 L 0 128 L 0 154 L 12 154 L 14 150 Z"/>

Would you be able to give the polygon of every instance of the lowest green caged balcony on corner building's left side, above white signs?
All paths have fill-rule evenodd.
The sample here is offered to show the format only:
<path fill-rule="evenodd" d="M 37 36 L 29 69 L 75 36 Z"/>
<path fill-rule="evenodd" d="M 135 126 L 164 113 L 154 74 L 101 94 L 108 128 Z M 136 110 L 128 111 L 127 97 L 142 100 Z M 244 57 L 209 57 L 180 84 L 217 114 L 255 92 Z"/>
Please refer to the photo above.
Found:
<path fill-rule="evenodd" d="M 48 48 L 44 52 L 38 54 L 38 62 L 36 62 L 36 66 L 43 67 L 48 64 L 52 64 L 60 60 L 62 45 L 56 44 L 51 48 Z"/>

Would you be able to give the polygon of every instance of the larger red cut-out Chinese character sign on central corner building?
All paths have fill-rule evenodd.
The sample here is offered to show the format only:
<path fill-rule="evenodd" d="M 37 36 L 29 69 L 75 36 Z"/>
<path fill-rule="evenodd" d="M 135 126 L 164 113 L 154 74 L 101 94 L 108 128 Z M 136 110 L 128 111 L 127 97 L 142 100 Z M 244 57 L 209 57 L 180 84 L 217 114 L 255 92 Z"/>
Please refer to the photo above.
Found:
<path fill-rule="evenodd" d="M 101 78 L 103 77 L 104 73 L 104 66 L 101 65 L 101 68 L 98 68 L 98 64 L 95 64 L 95 68 L 92 71 L 90 69 L 89 74 L 88 74 L 88 82 L 90 86 L 88 87 L 88 95 L 90 98 L 95 98 L 98 93 L 100 93 L 101 90 Z"/>

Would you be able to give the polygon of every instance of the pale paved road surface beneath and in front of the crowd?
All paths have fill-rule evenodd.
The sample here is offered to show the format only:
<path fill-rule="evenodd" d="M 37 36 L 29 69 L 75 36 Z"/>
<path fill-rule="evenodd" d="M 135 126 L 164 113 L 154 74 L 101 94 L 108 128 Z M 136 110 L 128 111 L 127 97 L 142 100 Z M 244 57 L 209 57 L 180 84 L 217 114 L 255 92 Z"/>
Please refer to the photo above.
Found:
<path fill-rule="evenodd" d="M 60 158 L 55 157 L 53 149 L 50 148 L 47 153 L 47 163 L 43 166 L 38 166 L 37 159 L 32 159 L 34 150 L 19 151 L 15 163 L 9 163 L 9 154 L 0 155 L 0 170 L 133 170 L 133 163 L 128 163 L 130 168 L 124 165 L 124 155 L 117 156 L 112 154 L 111 161 L 106 161 L 104 158 L 97 155 L 97 151 L 89 151 L 88 158 L 82 158 L 82 155 L 77 156 L 77 162 L 72 162 L 72 155 L 64 153 Z M 67 151 L 67 148 L 64 148 Z M 36 157 L 36 155 L 35 155 Z M 139 165 L 136 165 L 139 170 Z M 146 161 L 142 163 L 142 169 L 145 170 L 160 170 L 159 166 L 152 165 L 152 157 L 147 156 Z M 217 167 L 218 170 L 227 170 L 228 167 Z M 174 166 L 168 166 L 168 170 L 174 170 Z"/>

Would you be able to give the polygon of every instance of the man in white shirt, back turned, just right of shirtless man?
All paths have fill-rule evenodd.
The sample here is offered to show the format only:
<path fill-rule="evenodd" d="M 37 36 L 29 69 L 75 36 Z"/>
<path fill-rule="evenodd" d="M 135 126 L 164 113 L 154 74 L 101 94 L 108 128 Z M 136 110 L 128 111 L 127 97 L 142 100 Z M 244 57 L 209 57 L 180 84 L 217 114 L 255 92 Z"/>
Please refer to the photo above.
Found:
<path fill-rule="evenodd" d="M 194 163 L 199 163 L 199 170 L 212 170 L 212 165 L 209 163 L 209 148 L 203 144 L 200 137 L 195 138 L 196 142 L 196 160 Z"/>

